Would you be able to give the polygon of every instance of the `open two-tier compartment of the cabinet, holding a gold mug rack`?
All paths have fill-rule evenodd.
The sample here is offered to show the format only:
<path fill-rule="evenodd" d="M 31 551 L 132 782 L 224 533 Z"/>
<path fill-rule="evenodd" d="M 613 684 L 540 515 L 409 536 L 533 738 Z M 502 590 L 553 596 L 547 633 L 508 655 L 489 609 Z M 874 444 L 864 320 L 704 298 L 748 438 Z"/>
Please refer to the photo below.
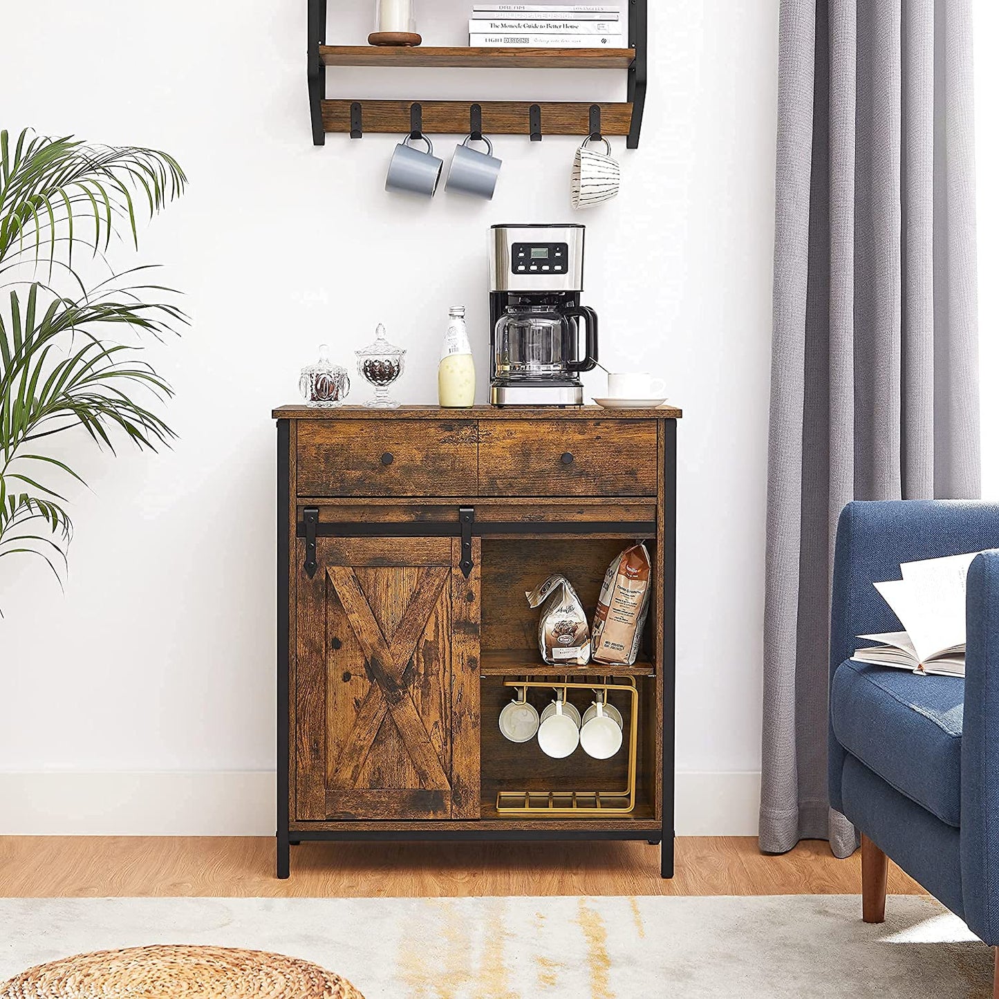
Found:
<path fill-rule="evenodd" d="M 484 536 L 482 540 L 482 813 L 534 826 L 551 822 L 599 825 L 602 820 L 647 822 L 658 817 L 661 756 L 660 654 L 654 605 L 642 630 L 633 666 L 549 664 L 537 648 L 538 613 L 524 593 L 545 576 L 563 574 L 592 620 L 604 573 L 626 547 L 628 537 L 523 538 Z M 653 565 L 657 541 L 647 538 Z M 621 712 L 624 742 L 610 759 L 588 756 L 581 746 L 564 759 L 546 756 L 536 738 L 507 741 L 499 715 L 517 687 L 540 711 L 555 691 L 563 691 L 582 713 L 603 690 Z"/>

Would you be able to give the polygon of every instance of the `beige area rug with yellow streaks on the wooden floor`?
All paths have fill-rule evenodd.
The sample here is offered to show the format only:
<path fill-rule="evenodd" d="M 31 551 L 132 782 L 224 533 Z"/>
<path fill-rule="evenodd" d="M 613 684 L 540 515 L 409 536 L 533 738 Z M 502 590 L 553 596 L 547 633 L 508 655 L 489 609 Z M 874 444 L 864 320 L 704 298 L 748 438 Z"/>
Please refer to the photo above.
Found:
<path fill-rule="evenodd" d="M 918 897 L 888 913 L 866 926 L 859 898 L 815 895 L 0 899 L 0 981 L 74 953 L 190 943 L 314 961 L 366 999 L 991 996 L 992 954 L 959 919 Z"/>

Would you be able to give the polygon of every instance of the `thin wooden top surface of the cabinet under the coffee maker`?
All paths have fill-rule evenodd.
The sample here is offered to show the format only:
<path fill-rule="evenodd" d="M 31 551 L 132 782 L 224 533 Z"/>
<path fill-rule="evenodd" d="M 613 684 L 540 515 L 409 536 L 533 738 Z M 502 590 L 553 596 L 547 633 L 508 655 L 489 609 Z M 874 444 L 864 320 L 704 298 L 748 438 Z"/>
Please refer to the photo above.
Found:
<path fill-rule="evenodd" d="M 679 420 L 683 411 L 672 406 L 657 410 L 604 410 L 599 406 L 557 407 L 474 406 L 468 410 L 446 410 L 440 406 L 401 406 L 398 410 L 372 410 L 364 406 L 314 409 L 281 406 L 275 420 Z"/>

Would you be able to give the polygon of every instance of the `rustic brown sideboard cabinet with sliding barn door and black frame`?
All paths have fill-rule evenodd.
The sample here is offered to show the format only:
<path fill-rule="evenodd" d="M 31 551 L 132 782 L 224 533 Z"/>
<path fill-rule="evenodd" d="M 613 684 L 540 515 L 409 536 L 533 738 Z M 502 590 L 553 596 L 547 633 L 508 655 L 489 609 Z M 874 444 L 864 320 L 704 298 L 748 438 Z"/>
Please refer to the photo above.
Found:
<path fill-rule="evenodd" d="M 283 407 L 278 421 L 278 876 L 303 840 L 661 842 L 673 872 L 679 410 Z M 644 538 L 633 666 L 545 665 L 524 592 L 586 613 Z M 623 744 L 551 759 L 503 705 L 594 691 Z"/>

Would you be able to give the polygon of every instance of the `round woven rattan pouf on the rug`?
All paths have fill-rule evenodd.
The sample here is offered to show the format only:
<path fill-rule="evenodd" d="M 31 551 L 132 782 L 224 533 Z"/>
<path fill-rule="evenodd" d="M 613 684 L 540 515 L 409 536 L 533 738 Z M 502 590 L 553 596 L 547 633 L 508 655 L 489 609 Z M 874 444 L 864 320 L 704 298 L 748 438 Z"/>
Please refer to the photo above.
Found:
<path fill-rule="evenodd" d="M 281 954 L 227 947 L 133 947 L 30 968 L 0 999 L 364 999 L 350 982 Z"/>

